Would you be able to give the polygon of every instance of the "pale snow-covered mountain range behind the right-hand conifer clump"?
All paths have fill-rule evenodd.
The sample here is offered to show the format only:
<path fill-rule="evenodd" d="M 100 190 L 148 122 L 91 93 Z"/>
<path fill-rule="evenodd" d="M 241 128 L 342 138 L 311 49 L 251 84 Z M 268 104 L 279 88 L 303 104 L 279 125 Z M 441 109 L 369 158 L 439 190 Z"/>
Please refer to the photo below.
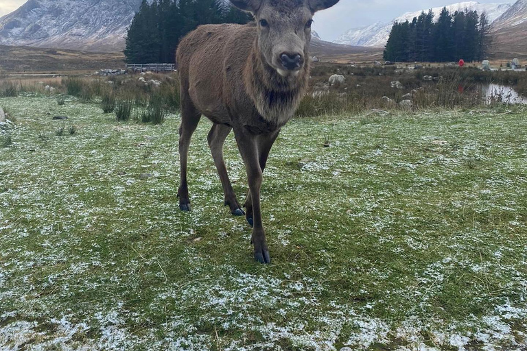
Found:
<path fill-rule="evenodd" d="M 527 1 L 527 0 L 522 0 Z M 504 12 L 510 9 L 513 5 L 513 2 L 510 3 L 478 3 L 477 1 L 465 1 L 461 3 L 454 3 L 452 5 L 447 5 L 449 12 L 453 13 L 456 11 L 462 11 L 465 9 L 476 10 L 478 14 L 485 12 L 490 23 L 493 23 L 498 17 L 500 17 Z M 438 19 L 439 14 L 441 13 L 441 8 L 432 8 L 436 19 Z M 362 45 L 366 47 L 384 47 L 388 42 L 388 37 L 390 36 L 390 31 L 392 30 L 393 23 L 412 21 L 414 17 L 418 17 L 422 11 L 428 12 L 426 10 L 419 10 L 416 12 L 407 12 L 402 16 L 397 17 L 390 23 L 374 23 L 366 27 L 359 27 L 349 29 L 346 33 L 342 34 L 334 43 L 346 44 L 346 45 Z"/>

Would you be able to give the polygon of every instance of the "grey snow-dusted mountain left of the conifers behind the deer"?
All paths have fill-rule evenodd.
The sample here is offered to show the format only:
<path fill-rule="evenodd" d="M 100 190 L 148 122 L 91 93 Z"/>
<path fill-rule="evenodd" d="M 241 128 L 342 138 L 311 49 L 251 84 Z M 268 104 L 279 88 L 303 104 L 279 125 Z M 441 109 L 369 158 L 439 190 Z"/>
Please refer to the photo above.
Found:
<path fill-rule="evenodd" d="M 29 0 L 0 18 L 0 45 L 112 52 L 141 0 Z"/>

